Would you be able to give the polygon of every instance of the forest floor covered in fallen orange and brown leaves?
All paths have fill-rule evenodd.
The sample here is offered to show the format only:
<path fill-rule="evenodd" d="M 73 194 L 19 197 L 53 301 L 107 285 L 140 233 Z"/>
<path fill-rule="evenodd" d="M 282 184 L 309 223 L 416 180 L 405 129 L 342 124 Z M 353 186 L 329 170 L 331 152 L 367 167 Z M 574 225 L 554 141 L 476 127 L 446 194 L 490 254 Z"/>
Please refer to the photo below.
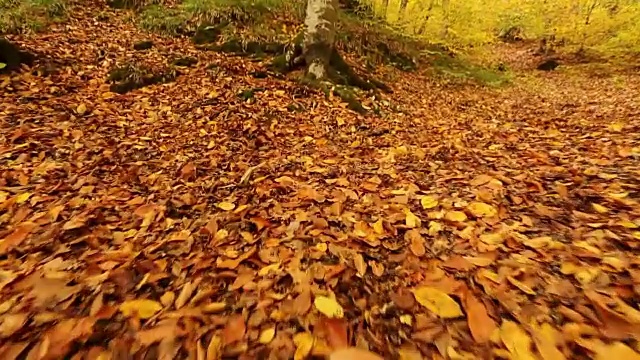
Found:
<path fill-rule="evenodd" d="M 56 64 L 0 77 L 0 358 L 640 357 L 637 72 L 387 69 L 359 115 L 95 13 L 11 37 Z"/>

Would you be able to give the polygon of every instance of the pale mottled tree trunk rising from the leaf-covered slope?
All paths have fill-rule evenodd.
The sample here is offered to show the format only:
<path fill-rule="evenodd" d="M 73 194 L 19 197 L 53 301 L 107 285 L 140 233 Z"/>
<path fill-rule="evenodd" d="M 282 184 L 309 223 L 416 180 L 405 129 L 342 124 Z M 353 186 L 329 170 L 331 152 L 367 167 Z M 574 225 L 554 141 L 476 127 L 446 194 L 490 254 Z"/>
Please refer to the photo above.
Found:
<path fill-rule="evenodd" d="M 307 74 L 326 79 L 336 37 L 338 0 L 308 0 L 302 43 Z"/>

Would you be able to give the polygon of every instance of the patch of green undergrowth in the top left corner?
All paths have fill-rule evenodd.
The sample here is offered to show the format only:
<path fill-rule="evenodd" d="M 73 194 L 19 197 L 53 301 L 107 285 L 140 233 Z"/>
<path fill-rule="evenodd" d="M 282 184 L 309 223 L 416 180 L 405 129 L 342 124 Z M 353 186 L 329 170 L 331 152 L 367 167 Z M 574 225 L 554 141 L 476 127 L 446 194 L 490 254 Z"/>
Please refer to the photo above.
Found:
<path fill-rule="evenodd" d="M 64 0 L 0 0 L 0 34 L 42 31 L 66 11 Z"/>

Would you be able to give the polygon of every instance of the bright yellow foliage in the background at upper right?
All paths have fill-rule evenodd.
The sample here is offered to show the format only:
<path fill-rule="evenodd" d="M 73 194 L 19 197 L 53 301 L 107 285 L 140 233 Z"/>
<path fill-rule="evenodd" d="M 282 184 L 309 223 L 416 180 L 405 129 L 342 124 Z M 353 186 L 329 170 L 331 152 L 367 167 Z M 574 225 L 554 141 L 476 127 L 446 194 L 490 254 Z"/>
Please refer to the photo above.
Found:
<path fill-rule="evenodd" d="M 409 0 L 405 9 L 402 0 L 363 2 L 407 34 L 432 43 L 477 46 L 517 28 L 524 38 L 551 39 L 572 50 L 640 51 L 637 0 Z"/>

